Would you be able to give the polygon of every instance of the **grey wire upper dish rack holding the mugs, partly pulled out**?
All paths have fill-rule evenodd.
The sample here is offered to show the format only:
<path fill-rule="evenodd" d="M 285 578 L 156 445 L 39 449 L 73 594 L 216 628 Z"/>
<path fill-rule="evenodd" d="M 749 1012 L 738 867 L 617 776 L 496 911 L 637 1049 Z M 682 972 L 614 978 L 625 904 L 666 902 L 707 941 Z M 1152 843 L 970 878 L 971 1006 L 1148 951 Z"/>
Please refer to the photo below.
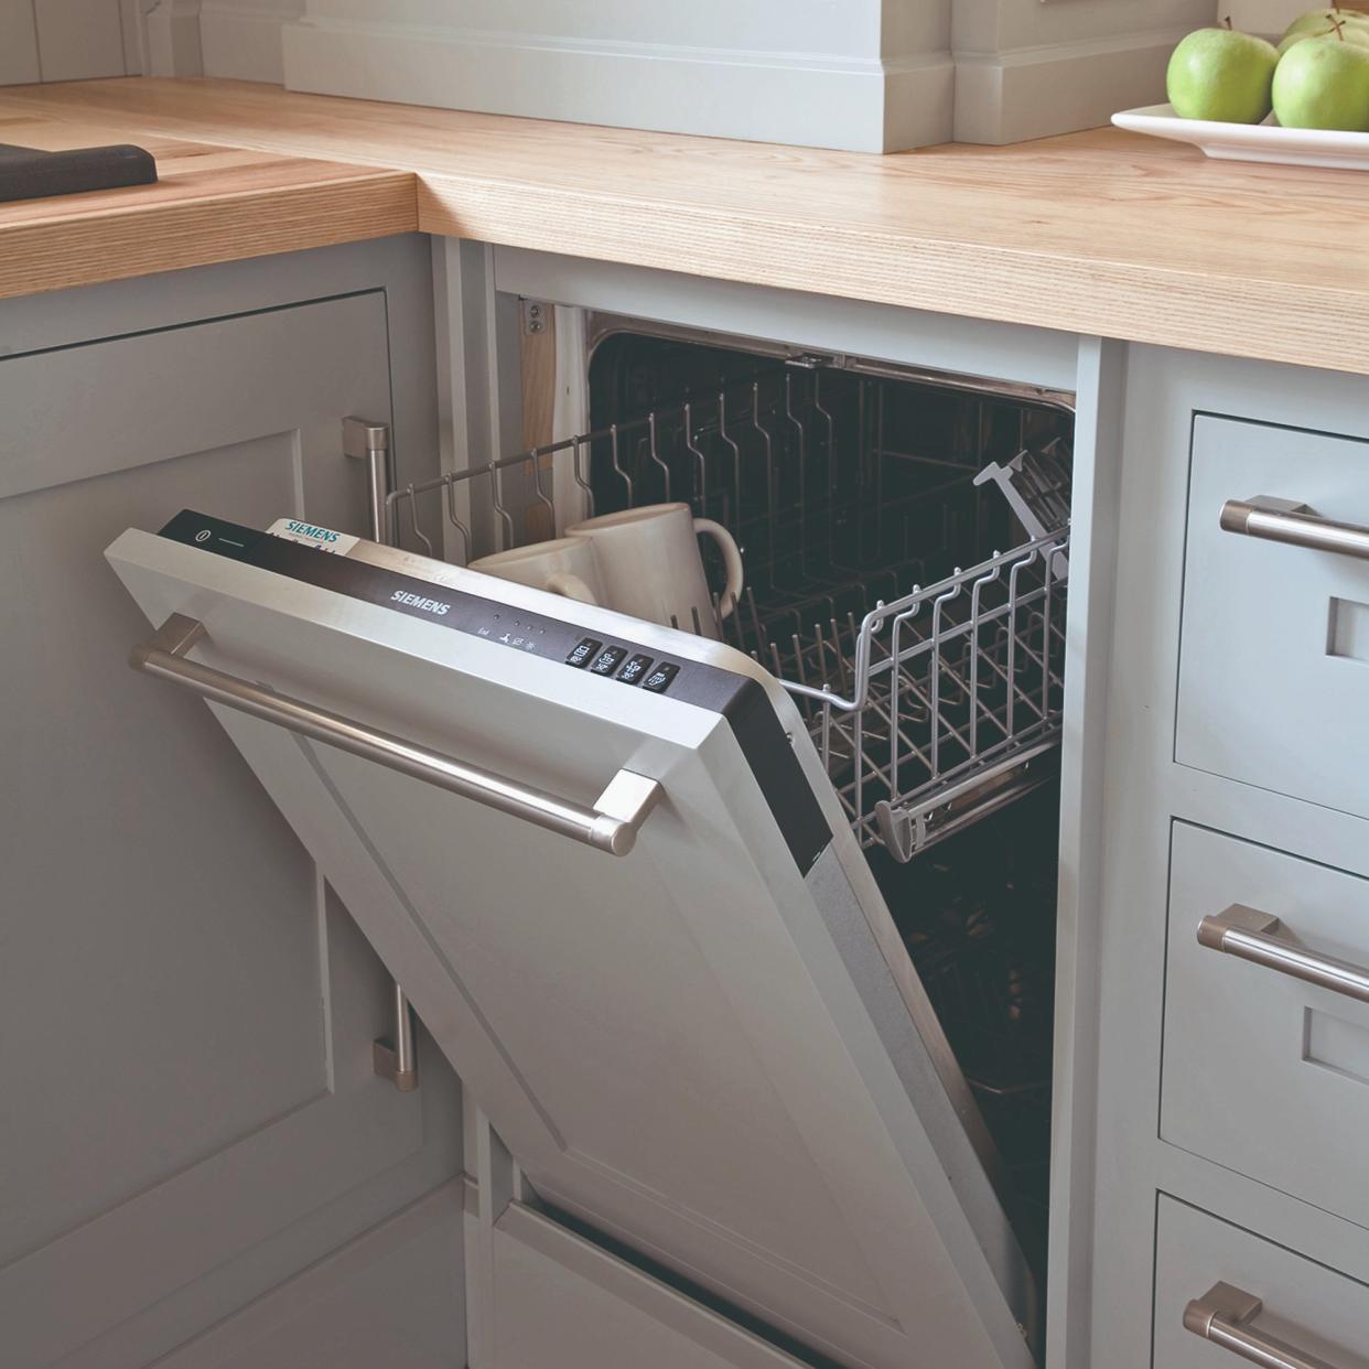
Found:
<path fill-rule="evenodd" d="M 1058 412 L 993 396 L 931 423 L 888 376 L 772 364 L 396 490 L 389 515 L 434 556 L 439 505 L 461 561 L 672 500 L 727 526 L 746 563 L 742 601 L 715 598 L 712 624 L 674 626 L 711 627 L 779 679 L 861 845 L 908 861 L 1053 773 L 1069 571 L 1064 427 Z M 928 446 L 914 449 L 912 435 Z M 986 459 L 994 449 L 1006 460 Z M 954 564 L 990 537 L 1009 549 Z"/>

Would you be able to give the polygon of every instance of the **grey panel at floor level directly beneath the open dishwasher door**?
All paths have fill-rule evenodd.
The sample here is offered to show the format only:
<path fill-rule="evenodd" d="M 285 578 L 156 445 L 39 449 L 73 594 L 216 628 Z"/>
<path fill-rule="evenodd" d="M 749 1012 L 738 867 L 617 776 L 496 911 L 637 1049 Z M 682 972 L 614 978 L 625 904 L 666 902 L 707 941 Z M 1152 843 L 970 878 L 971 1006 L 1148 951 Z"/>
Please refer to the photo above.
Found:
<path fill-rule="evenodd" d="M 804 1369 L 531 1207 L 511 1203 L 493 1238 L 490 1369 Z"/>

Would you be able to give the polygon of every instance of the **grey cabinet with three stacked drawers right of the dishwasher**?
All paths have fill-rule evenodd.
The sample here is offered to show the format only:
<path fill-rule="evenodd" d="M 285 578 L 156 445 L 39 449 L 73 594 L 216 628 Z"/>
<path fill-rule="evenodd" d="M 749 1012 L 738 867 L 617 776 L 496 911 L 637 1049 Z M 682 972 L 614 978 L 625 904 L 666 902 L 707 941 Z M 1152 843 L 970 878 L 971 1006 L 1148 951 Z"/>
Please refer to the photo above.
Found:
<path fill-rule="evenodd" d="M 1181 1325 L 1218 1281 L 1348 1369 L 1364 1006 L 1198 927 L 1247 905 L 1365 961 L 1364 561 L 1223 526 L 1257 496 L 1369 526 L 1365 381 L 1134 346 L 1114 439 L 1091 1344 L 1068 1369 L 1235 1366 Z"/>

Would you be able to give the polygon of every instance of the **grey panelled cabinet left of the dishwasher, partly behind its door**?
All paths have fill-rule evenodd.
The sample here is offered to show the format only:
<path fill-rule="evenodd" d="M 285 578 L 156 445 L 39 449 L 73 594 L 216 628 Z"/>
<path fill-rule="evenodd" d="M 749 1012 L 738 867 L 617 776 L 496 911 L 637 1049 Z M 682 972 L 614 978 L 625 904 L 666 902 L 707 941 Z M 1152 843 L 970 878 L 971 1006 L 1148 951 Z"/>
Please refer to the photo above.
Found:
<path fill-rule="evenodd" d="M 430 289 L 408 238 L 0 303 L 7 1369 L 464 1364 L 456 1080 L 374 1073 L 383 967 L 101 557 L 364 533 L 341 419 L 435 468 Z"/>

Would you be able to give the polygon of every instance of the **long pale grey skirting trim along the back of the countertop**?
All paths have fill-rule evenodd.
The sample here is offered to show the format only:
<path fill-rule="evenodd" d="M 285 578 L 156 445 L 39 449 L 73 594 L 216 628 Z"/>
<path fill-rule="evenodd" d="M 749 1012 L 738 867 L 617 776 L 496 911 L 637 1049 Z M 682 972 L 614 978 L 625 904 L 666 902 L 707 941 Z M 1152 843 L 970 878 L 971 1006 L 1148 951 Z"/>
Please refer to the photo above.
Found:
<path fill-rule="evenodd" d="M 286 25 L 292 90 L 650 131 L 891 152 L 950 136 L 946 52 L 879 62 L 311 19 Z"/>

